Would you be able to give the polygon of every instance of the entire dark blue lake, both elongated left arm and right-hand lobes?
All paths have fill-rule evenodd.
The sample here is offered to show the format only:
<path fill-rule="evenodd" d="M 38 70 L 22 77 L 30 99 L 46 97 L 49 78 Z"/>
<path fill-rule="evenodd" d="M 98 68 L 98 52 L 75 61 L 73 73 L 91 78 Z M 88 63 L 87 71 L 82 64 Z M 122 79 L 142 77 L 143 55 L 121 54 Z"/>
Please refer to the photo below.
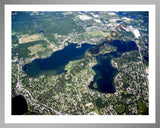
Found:
<path fill-rule="evenodd" d="M 103 42 L 105 44 L 107 42 Z M 113 85 L 113 79 L 117 70 L 112 67 L 110 61 L 112 58 L 121 56 L 122 53 L 138 50 L 135 42 L 123 42 L 115 40 L 108 43 L 114 47 L 117 47 L 116 52 L 107 53 L 105 55 L 98 55 L 96 59 L 98 64 L 93 67 L 96 72 L 94 81 L 90 83 L 89 88 L 94 89 L 94 82 L 97 83 L 97 90 L 103 93 L 113 93 L 115 88 Z M 76 48 L 77 44 L 70 44 L 64 49 L 54 52 L 50 57 L 46 59 L 35 59 L 29 64 L 24 65 L 24 72 L 30 76 L 37 76 L 47 71 L 52 70 L 52 74 L 60 74 L 65 72 L 64 68 L 69 61 L 81 59 L 87 50 L 92 51 L 95 45 L 83 44 L 80 48 Z M 98 50 L 96 51 L 98 52 Z M 54 72 L 53 72 L 54 70 Z"/>

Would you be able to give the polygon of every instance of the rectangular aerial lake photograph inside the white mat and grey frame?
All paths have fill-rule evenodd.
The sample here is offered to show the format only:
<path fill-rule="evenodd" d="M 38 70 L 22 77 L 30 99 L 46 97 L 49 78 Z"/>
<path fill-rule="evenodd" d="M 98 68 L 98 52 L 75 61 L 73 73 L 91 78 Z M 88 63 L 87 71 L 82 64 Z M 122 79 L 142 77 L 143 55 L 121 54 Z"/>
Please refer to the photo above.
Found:
<path fill-rule="evenodd" d="M 12 115 L 149 115 L 148 11 L 12 11 Z"/>

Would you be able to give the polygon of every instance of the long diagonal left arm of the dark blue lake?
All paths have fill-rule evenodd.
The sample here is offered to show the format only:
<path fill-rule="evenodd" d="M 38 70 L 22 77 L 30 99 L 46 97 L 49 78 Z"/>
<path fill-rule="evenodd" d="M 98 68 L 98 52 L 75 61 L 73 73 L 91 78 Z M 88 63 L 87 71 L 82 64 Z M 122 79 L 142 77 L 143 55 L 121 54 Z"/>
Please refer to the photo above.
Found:
<path fill-rule="evenodd" d="M 81 59 L 86 50 L 94 45 L 83 44 L 80 48 L 76 48 L 77 44 L 69 43 L 68 46 L 54 52 L 46 59 L 35 59 L 31 63 L 24 65 L 23 71 L 30 77 L 37 76 L 41 73 L 47 73 L 52 70 L 52 74 L 60 74 L 65 72 L 64 68 L 70 61 Z"/>

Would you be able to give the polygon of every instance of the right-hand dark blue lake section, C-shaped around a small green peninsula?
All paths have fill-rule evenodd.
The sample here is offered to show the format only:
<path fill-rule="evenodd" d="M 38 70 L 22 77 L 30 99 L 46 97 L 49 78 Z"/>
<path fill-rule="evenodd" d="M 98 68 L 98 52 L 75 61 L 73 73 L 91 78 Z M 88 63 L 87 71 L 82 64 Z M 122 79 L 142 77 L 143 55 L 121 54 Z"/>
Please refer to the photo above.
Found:
<path fill-rule="evenodd" d="M 94 77 L 94 81 L 90 83 L 89 88 L 96 89 L 102 93 L 114 93 L 115 87 L 113 81 L 118 71 L 112 67 L 111 59 L 120 57 L 124 52 L 138 50 L 138 47 L 133 41 L 124 42 L 120 40 L 114 40 L 107 44 L 117 47 L 117 51 L 110 52 L 105 55 L 98 55 L 96 57 L 98 64 L 93 67 L 96 75 Z M 98 85 L 97 88 L 93 87 L 95 82 Z"/>

